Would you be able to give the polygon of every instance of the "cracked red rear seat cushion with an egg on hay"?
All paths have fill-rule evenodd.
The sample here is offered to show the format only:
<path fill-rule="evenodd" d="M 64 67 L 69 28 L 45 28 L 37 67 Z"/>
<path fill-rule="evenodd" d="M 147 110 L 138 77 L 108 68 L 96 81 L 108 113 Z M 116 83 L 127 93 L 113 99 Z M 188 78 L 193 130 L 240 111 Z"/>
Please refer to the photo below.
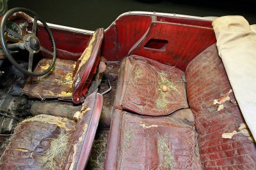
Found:
<path fill-rule="evenodd" d="M 131 55 L 122 64 L 122 92 L 119 105 L 129 111 L 134 111 L 141 115 L 161 116 L 169 115 L 180 108 L 188 108 L 186 100 L 186 90 L 184 85 L 184 72 L 180 69 L 161 64 L 156 60 L 147 59 L 137 55 Z M 172 81 L 176 90 L 168 89 L 161 92 L 161 77 Z M 160 103 L 163 93 L 166 93 L 164 106 Z"/>

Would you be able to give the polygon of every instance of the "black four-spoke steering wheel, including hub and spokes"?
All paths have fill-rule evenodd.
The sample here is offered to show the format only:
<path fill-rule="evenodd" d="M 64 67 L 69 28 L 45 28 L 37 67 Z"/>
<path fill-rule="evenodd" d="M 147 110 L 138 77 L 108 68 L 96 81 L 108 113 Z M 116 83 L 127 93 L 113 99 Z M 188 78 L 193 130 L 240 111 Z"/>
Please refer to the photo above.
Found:
<path fill-rule="evenodd" d="M 8 18 L 16 12 L 23 12 L 26 15 L 28 15 L 29 17 L 34 18 L 33 19 L 33 28 L 32 28 L 31 33 L 29 32 L 29 33 L 26 33 L 25 36 L 22 36 L 21 34 L 15 32 L 15 31 L 12 31 L 8 27 L 6 27 L 6 22 L 8 21 Z M 51 51 L 47 50 L 46 48 L 44 48 L 43 46 L 41 46 L 40 41 L 36 37 L 36 28 L 37 28 L 38 20 L 40 20 L 40 22 L 42 22 L 42 24 L 45 27 L 45 30 L 47 31 L 47 34 L 49 34 L 49 37 L 52 42 L 53 52 L 51 52 Z M 11 44 L 11 45 L 7 45 L 6 40 L 4 38 L 4 32 L 8 32 L 8 34 L 12 34 L 12 36 L 15 36 L 15 38 L 20 39 L 20 42 Z M 1 34 L 1 45 L 3 47 L 6 57 L 10 60 L 10 62 L 13 64 L 13 66 L 15 66 L 17 69 L 19 69 L 19 71 L 21 71 L 22 73 L 27 74 L 29 76 L 43 76 L 43 75 L 47 74 L 49 71 L 51 71 L 51 69 L 54 66 L 55 61 L 56 61 L 56 44 L 55 44 L 54 38 L 52 36 L 52 32 L 49 29 L 48 25 L 42 19 L 40 19 L 39 15 L 37 15 L 34 11 L 28 10 L 26 8 L 12 8 L 11 10 L 8 10 L 2 18 L 0 34 Z M 15 59 L 13 59 L 12 54 L 10 53 L 10 50 L 9 50 L 9 48 L 11 48 L 13 46 L 18 47 L 22 50 L 26 49 L 29 52 L 28 69 L 20 66 L 17 63 L 17 61 Z M 51 62 L 51 65 L 47 69 L 45 69 L 45 71 L 36 73 L 36 72 L 32 71 L 33 58 L 34 58 L 34 55 L 40 51 L 51 55 L 52 62 Z"/>

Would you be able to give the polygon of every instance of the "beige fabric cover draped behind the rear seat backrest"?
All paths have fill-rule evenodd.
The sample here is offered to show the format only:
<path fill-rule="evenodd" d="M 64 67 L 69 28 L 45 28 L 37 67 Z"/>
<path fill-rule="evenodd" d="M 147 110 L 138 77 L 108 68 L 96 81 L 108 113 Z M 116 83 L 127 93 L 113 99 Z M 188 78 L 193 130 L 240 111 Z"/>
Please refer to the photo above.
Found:
<path fill-rule="evenodd" d="M 246 124 L 256 138 L 256 25 L 241 16 L 212 22 L 219 55 Z"/>

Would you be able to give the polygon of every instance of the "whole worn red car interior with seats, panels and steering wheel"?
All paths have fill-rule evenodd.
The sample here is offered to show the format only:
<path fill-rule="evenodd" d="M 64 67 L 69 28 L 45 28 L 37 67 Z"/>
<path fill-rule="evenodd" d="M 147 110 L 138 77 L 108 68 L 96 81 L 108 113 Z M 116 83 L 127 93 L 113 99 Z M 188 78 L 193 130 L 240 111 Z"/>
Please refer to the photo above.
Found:
<path fill-rule="evenodd" d="M 255 169 L 211 23 L 126 13 L 81 32 L 6 11 L 0 169 Z"/>

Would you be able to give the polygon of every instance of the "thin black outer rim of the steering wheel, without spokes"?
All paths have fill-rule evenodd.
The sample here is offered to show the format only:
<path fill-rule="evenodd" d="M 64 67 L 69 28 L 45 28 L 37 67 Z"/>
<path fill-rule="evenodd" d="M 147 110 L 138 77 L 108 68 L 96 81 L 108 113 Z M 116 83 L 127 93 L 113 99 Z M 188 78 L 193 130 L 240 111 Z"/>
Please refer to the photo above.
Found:
<path fill-rule="evenodd" d="M 5 26 L 6 26 L 6 22 L 8 21 L 8 18 L 13 15 L 13 13 L 16 13 L 16 12 L 23 12 L 23 13 L 26 13 L 27 15 L 29 15 L 30 17 L 35 18 L 37 20 L 40 20 L 40 22 L 42 22 L 42 24 L 44 25 L 45 27 L 45 30 L 47 31 L 47 33 L 49 34 L 50 38 L 51 38 L 51 42 L 52 42 L 52 47 L 53 47 L 53 52 L 52 52 L 52 62 L 51 62 L 51 65 L 45 69 L 45 71 L 43 72 L 40 72 L 40 73 L 34 73 L 33 71 L 28 71 L 27 69 L 25 69 L 24 67 L 20 66 L 15 59 L 13 59 L 12 57 L 12 54 L 10 53 L 10 50 L 8 49 L 8 46 L 6 44 L 6 40 L 4 38 L 4 32 L 5 32 Z M 37 22 L 36 20 L 36 22 Z M 19 71 L 21 71 L 22 73 L 24 74 L 27 74 L 29 76 L 43 76 L 47 73 L 49 73 L 49 71 L 51 71 L 52 67 L 54 67 L 54 64 L 55 64 L 55 61 L 56 61 L 56 44 L 55 44 L 55 41 L 54 41 L 54 38 L 52 36 L 52 32 L 51 30 L 49 29 L 48 25 L 46 24 L 46 22 L 44 22 L 38 14 L 36 14 L 34 11 L 31 11 L 27 8 L 12 8 L 11 10 L 8 10 L 3 18 L 2 18 L 2 21 L 1 21 L 1 27 L 0 27 L 0 38 L 1 38 L 1 45 L 2 45 L 2 48 L 4 50 L 4 53 L 6 55 L 6 57 L 8 58 L 8 60 L 10 60 L 10 62 L 13 64 L 13 66 L 15 66 L 17 69 L 19 69 Z"/>

